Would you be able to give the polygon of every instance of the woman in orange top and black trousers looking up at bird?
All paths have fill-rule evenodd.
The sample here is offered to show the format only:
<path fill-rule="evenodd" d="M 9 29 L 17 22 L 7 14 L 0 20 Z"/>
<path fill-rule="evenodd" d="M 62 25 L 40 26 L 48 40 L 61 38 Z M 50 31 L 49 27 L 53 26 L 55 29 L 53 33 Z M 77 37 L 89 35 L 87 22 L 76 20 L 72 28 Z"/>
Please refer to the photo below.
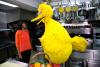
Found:
<path fill-rule="evenodd" d="M 17 30 L 15 35 L 16 48 L 18 50 L 19 58 L 22 62 L 28 63 L 31 54 L 31 42 L 29 37 L 29 31 L 25 23 L 21 24 L 21 29 Z"/>

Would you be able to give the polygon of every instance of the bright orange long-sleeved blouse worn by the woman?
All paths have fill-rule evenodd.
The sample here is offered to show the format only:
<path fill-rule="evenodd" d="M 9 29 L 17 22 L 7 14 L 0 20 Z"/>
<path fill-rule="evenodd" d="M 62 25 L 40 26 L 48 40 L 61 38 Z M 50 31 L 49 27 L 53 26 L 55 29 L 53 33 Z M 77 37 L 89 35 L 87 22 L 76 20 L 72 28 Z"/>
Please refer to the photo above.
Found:
<path fill-rule="evenodd" d="M 16 47 L 20 52 L 32 49 L 29 31 L 18 30 L 15 35 Z"/>

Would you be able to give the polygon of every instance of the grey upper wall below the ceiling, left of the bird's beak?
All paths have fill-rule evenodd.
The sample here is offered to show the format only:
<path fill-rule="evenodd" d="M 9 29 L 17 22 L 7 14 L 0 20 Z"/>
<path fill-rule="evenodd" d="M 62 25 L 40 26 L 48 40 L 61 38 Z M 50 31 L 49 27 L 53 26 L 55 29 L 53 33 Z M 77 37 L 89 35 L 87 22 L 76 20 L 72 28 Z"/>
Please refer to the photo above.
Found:
<path fill-rule="evenodd" d="M 6 28 L 7 23 L 17 20 L 31 20 L 34 16 L 36 16 L 36 13 L 24 9 L 0 12 L 0 28 Z"/>

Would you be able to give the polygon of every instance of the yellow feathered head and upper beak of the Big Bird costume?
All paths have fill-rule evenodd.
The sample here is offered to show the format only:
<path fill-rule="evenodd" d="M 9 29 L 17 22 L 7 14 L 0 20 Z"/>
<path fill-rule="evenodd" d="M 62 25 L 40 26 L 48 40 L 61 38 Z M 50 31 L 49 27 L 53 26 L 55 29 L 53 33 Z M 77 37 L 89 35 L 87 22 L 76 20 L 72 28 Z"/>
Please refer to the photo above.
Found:
<path fill-rule="evenodd" d="M 43 19 L 43 18 L 52 18 L 53 9 L 50 5 L 42 3 L 38 7 L 38 16 L 31 20 L 31 22 Z"/>

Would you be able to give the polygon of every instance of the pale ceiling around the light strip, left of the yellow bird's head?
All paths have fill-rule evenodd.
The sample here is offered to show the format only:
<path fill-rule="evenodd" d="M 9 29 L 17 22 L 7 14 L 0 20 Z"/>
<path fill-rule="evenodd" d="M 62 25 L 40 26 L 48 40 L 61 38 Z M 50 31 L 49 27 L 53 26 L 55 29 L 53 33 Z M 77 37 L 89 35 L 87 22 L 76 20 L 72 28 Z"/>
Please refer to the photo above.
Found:
<path fill-rule="evenodd" d="M 2 1 L 18 5 L 19 8 L 23 8 L 23 9 L 26 9 L 26 10 L 29 10 L 29 11 L 34 11 L 34 10 L 36 10 L 38 4 L 42 0 L 2 0 Z M 12 9 L 11 7 L 8 7 L 8 6 L 2 7 L 2 9 L 8 9 L 8 8 Z"/>

